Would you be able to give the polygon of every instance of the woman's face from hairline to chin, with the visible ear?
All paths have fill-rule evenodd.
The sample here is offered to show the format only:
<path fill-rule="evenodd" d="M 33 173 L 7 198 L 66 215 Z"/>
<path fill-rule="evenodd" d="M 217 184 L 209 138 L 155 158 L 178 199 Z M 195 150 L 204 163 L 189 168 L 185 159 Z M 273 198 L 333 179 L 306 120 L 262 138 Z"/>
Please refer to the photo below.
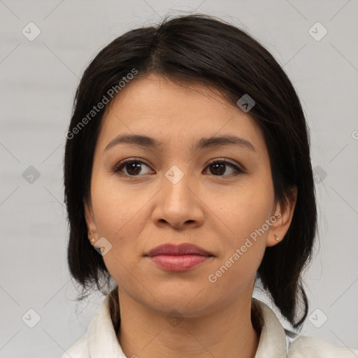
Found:
<path fill-rule="evenodd" d="M 154 75 L 124 87 L 103 121 L 86 220 L 120 294 L 186 317 L 251 297 L 264 250 L 278 243 L 274 234 L 285 235 L 292 215 L 275 205 L 255 121 L 208 87 Z M 108 147 L 124 135 L 151 140 Z M 207 141 L 222 136 L 241 139 Z M 134 163 L 118 166 L 124 159 Z M 211 256 L 157 257 L 164 266 L 145 256 L 166 243 Z"/>

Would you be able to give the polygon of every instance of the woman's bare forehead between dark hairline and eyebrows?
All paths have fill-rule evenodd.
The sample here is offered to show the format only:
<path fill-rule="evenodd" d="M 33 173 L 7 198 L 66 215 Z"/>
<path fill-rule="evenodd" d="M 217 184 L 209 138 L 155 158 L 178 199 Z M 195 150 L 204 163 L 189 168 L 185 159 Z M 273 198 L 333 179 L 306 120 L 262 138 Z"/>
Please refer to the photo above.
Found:
<path fill-rule="evenodd" d="M 230 135 L 255 142 L 258 150 L 264 145 L 255 120 L 219 91 L 155 75 L 132 81 L 113 99 L 103 115 L 99 149 L 105 150 L 118 134 L 155 138 L 162 143 L 160 149 L 171 144 L 179 150 L 180 143 L 194 149 L 201 138 Z"/>

